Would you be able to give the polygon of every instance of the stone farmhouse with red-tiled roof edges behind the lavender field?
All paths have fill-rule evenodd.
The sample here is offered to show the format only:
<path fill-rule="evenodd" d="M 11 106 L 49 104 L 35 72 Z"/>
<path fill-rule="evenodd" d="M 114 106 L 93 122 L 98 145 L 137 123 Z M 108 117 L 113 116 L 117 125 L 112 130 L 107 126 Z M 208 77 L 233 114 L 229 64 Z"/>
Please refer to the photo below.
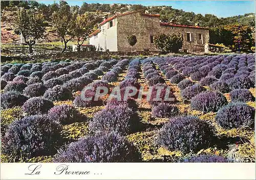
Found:
<path fill-rule="evenodd" d="M 131 51 L 127 36 L 135 35 L 137 43 L 133 51 L 160 51 L 153 43 L 158 32 L 182 33 L 183 52 L 204 52 L 209 41 L 209 30 L 198 26 L 183 26 L 160 21 L 160 15 L 144 14 L 138 11 L 118 14 L 104 19 L 99 29 L 90 34 L 90 44 L 96 51 Z"/>

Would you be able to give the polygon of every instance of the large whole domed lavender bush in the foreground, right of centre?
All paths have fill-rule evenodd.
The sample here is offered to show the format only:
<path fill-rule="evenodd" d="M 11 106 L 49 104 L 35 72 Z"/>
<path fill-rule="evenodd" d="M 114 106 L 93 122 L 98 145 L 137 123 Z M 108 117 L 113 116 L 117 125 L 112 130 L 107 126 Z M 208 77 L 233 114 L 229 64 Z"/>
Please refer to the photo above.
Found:
<path fill-rule="evenodd" d="M 158 132 L 156 143 L 171 151 L 197 152 L 208 146 L 215 130 L 205 120 L 194 116 L 170 119 Z"/>

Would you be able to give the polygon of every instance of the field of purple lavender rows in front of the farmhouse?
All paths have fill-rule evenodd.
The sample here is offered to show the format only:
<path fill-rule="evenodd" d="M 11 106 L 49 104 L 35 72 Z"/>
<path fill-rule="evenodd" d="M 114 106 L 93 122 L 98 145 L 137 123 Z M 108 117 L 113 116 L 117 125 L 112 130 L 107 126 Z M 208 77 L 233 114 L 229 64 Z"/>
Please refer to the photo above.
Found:
<path fill-rule="evenodd" d="M 254 162 L 254 56 L 3 63 L 1 161 Z"/>

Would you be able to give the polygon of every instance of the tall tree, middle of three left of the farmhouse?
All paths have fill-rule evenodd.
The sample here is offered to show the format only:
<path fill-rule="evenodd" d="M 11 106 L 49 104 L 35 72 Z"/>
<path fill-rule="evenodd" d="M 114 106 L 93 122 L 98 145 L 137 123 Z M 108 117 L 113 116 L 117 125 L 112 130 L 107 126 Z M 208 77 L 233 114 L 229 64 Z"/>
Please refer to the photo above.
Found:
<path fill-rule="evenodd" d="M 59 2 L 59 8 L 52 14 L 52 24 L 58 36 L 64 42 L 62 52 L 67 50 L 67 43 L 75 36 L 76 13 L 72 13 L 70 6 L 65 1 Z"/>

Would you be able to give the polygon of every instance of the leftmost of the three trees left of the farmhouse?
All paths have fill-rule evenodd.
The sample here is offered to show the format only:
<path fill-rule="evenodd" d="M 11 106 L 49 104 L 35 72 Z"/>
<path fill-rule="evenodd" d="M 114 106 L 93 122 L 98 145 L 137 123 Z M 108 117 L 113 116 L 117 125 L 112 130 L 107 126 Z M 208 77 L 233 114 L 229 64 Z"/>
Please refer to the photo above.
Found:
<path fill-rule="evenodd" d="M 44 16 L 32 10 L 20 9 L 14 21 L 14 32 L 22 34 L 29 46 L 29 54 L 33 52 L 32 46 L 37 39 L 44 37 L 46 22 Z"/>

